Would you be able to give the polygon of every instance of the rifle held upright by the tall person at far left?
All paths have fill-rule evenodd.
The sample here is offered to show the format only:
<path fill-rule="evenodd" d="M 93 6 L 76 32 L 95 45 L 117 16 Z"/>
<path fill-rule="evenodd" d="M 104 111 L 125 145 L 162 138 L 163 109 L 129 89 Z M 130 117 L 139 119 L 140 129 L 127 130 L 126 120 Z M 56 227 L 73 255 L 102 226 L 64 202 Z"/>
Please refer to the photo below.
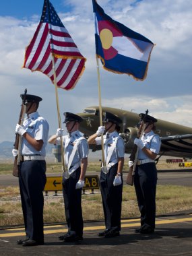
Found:
<path fill-rule="evenodd" d="M 26 94 L 27 94 L 27 89 L 25 90 L 24 93 L 24 98 L 22 101 L 22 107 L 20 110 L 20 117 L 18 124 L 23 125 L 24 123 L 24 117 L 26 114 Z M 13 164 L 13 176 L 19 177 L 19 170 L 20 170 L 20 161 L 21 161 L 21 149 L 22 149 L 22 136 L 20 136 L 18 133 L 15 135 L 15 143 L 14 143 L 14 149 L 18 150 L 18 155 L 15 156 L 14 159 L 14 164 Z"/>

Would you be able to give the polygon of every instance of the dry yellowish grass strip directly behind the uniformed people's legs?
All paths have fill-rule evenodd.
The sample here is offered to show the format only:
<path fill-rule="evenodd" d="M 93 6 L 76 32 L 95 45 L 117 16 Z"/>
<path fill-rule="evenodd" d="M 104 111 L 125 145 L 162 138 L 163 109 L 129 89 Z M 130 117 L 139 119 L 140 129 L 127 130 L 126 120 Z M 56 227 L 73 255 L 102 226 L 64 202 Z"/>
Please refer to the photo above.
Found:
<path fill-rule="evenodd" d="M 24 223 L 18 187 L 0 187 L 0 203 L 0 226 Z M 84 220 L 103 220 L 101 195 L 82 195 L 82 210 Z M 156 215 L 181 210 L 192 210 L 192 187 L 158 185 Z M 121 218 L 130 217 L 139 217 L 137 199 L 134 187 L 124 185 Z M 63 196 L 44 196 L 44 222 L 65 222 Z"/>

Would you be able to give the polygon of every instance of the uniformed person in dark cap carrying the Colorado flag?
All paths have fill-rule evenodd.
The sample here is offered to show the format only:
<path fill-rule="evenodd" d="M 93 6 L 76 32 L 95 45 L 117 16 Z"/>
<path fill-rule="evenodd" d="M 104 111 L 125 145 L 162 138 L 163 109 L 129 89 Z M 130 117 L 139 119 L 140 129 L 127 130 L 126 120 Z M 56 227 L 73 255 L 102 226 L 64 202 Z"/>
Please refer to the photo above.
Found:
<path fill-rule="evenodd" d="M 98 131 L 88 138 L 90 144 L 101 144 L 104 133 L 104 157 L 106 166 L 102 166 L 100 172 L 100 191 L 104 210 L 106 229 L 98 233 L 98 236 L 119 236 L 121 230 L 121 203 L 123 192 L 122 170 L 124 164 L 125 144 L 119 136 L 119 117 L 106 112 L 103 120 L 104 126 L 98 127 Z M 104 168 L 106 167 L 106 168 Z"/>

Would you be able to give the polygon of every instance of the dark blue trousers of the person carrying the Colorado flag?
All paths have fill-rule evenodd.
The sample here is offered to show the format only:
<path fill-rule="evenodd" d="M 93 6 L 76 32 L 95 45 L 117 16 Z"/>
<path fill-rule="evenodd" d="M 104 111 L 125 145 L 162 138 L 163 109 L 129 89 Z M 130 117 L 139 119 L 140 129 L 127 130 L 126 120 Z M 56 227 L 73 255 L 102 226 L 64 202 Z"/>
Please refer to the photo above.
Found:
<path fill-rule="evenodd" d="M 113 181 L 117 175 L 117 167 L 118 164 L 112 166 L 107 174 L 100 172 L 100 191 L 105 226 L 107 229 L 117 228 L 120 231 L 123 183 L 119 186 L 113 186 Z"/>

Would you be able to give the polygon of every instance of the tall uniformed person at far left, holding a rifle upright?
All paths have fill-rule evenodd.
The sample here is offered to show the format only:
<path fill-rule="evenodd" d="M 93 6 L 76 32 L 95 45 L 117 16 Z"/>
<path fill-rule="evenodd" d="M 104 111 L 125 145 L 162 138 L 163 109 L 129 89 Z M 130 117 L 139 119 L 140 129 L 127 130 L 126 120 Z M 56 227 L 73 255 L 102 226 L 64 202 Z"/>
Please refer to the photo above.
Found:
<path fill-rule="evenodd" d="M 49 124 L 37 112 L 42 98 L 30 94 L 25 96 L 26 114 L 23 126 L 16 125 L 15 132 L 22 136 L 21 163 L 19 170 L 20 194 L 26 230 L 26 239 L 18 245 L 43 245 L 43 189 L 46 183 L 45 147 Z M 24 94 L 21 94 L 24 100 Z M 13 156 L 18 150 L 13 150 Z"/>

